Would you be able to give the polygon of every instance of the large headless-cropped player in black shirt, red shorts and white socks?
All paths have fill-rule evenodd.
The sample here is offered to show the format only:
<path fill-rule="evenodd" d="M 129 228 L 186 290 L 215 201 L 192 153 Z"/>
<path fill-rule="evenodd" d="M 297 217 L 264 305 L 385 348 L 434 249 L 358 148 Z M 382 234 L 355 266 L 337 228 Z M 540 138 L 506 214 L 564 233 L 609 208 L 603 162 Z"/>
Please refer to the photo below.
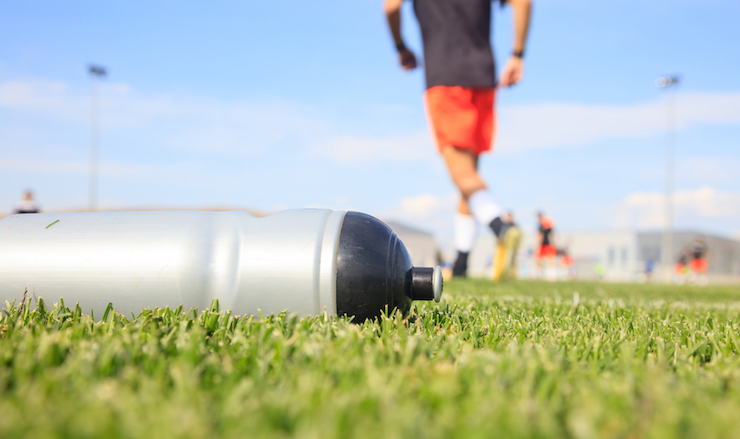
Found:
<path fill-rule="evenodd" d="M 522 79 L 530 0 L 502 0 L 513 8 L 514 41 L 498 81 L 491 49 L 491 0 L 414 0 L 424 44 L 426 104 L 429 124 L 452 181 L 460 192 L 455 216 L 453 275 L 464 276 L 473 248 L 476 223 L 505 234 L 501 208 L 478 174 L 480 154 L 490 151 L 495 134 L 496 87 Z M 393 41 L 404 70 L 416 68 L 416 56 L 401 36 L 403 0 L 385 0 Z"/>

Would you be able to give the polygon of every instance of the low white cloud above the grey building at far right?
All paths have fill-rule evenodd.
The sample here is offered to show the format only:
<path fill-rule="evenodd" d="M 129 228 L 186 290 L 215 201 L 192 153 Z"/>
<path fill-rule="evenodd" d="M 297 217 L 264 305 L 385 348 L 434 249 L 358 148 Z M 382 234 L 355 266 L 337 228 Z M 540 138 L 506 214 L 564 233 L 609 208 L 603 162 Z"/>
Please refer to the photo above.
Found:
<path fill-rule="evenodd" d="M 661 192 L 634 192 L 614 206 L 611 226 L 620 229 L 663 227 L 664 200 Z M 676 191 L 673 205 L 674 221 L 740 221 L 740 193 L 738 192 L 718 191 L 709 186 Z"/>

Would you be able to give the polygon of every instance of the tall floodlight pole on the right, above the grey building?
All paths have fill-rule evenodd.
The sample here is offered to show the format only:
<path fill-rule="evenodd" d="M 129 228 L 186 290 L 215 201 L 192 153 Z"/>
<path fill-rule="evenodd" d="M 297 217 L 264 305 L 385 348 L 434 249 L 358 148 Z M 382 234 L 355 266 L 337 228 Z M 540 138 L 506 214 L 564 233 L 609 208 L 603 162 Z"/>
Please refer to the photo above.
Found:
<path fill-rule="evenodd" d="M 676 143 L 676 93 L 679 77 L 677 75 L 661 76 L 655 80 L 655 85 L 665 88 L 666 95 L 666 170 L 665 170 L 665 228 L 663 230 L 663 245 L 661 260 L 666 272 L 666 279 L 670 282 L 673 267 L 673 187 L 675 168 Z"/>

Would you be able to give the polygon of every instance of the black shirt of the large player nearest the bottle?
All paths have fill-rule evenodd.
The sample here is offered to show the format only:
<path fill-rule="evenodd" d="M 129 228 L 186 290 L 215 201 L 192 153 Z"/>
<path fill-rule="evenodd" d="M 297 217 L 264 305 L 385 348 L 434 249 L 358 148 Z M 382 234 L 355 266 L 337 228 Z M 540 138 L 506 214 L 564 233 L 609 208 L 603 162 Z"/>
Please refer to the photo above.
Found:
<path fill-rule="evenodd" d="M 495 87 L 491 0 L 414 0 L 427 88 Z"/>

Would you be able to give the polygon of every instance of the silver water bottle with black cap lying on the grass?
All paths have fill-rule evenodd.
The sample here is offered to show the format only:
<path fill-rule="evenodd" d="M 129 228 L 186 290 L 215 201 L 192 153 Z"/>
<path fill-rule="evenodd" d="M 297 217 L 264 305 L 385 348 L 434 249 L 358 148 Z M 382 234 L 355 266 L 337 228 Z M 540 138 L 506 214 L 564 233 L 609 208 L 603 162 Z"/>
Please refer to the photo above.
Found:
<path fill-rule="evenodd" d="M 218 299 L 235 314 L 328 313 L 361 322 L 439 301 L 439 267 L 412 267 L 403 243 L 359 212 L 96 212 L 0 220 L 0 301 L 25 290 L 101 315 Z M 1 302 L 0 302 L 1 303 Z"/>

